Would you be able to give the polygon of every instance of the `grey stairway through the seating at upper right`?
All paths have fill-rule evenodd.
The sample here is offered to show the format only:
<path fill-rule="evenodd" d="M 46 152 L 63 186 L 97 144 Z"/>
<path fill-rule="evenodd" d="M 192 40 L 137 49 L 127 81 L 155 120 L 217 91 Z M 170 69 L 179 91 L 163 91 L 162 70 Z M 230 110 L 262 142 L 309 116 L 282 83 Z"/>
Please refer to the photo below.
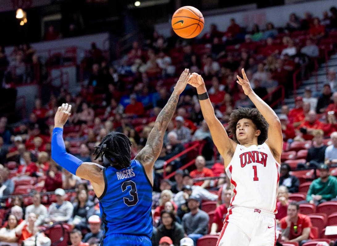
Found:
<path fill-rule="evenodd" d="M 316 76 L 313 73 L 310 78 L 308 80 L 304 80 L 303 83 L 299 86 L 299 88 L 297 89 L 296 95 L 297 96 L 304 96 L 304 90 L 305 87 L 310 86 L 310 88 L 312 89 L 313 96 L 318 97 L 321 93 L 321 90 L 323 88 L 323 85 L 326 83 L 327 81 L 327 71 L 326 71 L 326 67 L 325 67 L 325 63 L 321 64 L 318 68 L 317 71 L 317 86 L 318 86 L 318 90 L 316 91 Z M 328 61 L 328 70 L 333 69 L 337 72 L 337 54 L 334 54 L 332 56 L 330 56 L 330 59 Z M 284 99 L 285 105 L 287 105 L 289 107 L 289 109 L 292 109 L 295 107 L 295 99 L 294 99 L 294 91 L 289 92 L 289 96 L 288 98 Z M 277 109 L 275 109 L 276 114 L 280 114 L 281 113 L 281 106 L 279 106 Z"/>

